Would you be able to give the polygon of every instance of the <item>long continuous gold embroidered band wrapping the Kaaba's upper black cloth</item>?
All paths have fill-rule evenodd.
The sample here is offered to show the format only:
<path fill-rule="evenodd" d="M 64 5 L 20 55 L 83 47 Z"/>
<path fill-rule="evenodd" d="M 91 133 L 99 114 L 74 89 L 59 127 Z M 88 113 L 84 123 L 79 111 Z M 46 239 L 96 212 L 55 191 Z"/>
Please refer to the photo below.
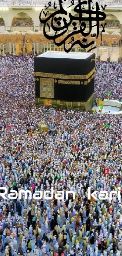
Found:
<path fill-rule="evenodd" d="M 57 78 L 57 79 L 88 79 L 92 74 L 94 74 L 95 68 L 90 71 L 87 75 L 63 75 L 63 74 L 51 74 L 34 72 L 35 77 L 47 77 L 47 78 Z"/>

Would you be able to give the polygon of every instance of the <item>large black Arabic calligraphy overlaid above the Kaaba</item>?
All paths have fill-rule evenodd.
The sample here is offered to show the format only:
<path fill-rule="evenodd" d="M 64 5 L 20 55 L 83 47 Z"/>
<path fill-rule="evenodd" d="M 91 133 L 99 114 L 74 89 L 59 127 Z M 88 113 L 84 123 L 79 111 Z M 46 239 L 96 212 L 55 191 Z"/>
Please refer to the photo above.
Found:
<path fill-rule="evenodd" d="M 63 1 L 66 3 L 68 0 Z M 45 8 L 41 10 L 39 20 L 42 24 L 44 24 L 43 34 L 45 38 L 48 40 L 54 40 L 55 45 L 58 47 L 64 44 L 65 52 L 70 52 L 76 44 L 79 44 L 82 49 L 92 46 L 87 52 L 93 50 L 96 48 L 96 46 L 94 46 L 94 41 L 88 42 L 87 36 L 91 34 L 93 27 L 96 27 L 96 33 L 91 34 L 91 37 L 96 37 L 96 39 L 98 38 L 99 22 L 105 20 L 106 14 L 103 11 L 100 11 L 98 2 L 92 4 L 92 0 L 78 0 L 76 5 L 75 1 L 71 0 L 71 4 L 65 9 L 63 8 L 63 1 L 58 0 L 58 6 L 56 5 L 55 1 L 53 3 L 53 0 L 51 0 L 48 2 L 48 6 L 45 5 Z M 71 6 L 74 8 L 74 15 L 68 11 L 68 8 L 71 8 Z M 107 5 L 101 5 L 101 9 L 105 10 L 106 6 Z M 49 13 L 49 8 L 51 8 L 51 14 Z M 54 8 L 53 11 L 52 8 Z M 85 31 L 85 21 L 89 23 L 88 32 Z M 73 31 L 67 34 L 70 25 L 73 26 Z M 105 32 L 105 25 L 106 23 L 104 23 L 104 25 L 101 24 L 101 40 L 102 33 Z M 47 31 L 52 32 L 52 34 L 48 33 Z M 79 36 L 77 37 L 78 34 Z M 81 39 L 81 36 L 84 38 Z M 66 45 L 69 45 L 68 49 Z"/>

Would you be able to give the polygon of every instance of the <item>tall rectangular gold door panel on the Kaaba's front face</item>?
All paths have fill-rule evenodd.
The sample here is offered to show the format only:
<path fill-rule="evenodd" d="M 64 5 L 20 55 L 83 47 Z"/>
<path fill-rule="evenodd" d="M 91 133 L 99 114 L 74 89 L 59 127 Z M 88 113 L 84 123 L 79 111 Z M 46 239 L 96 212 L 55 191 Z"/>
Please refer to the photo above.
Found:
<path fill-rule="evenodd" d="M 40 97 L 54 98 L 54 79 L 40 78 Z"/>

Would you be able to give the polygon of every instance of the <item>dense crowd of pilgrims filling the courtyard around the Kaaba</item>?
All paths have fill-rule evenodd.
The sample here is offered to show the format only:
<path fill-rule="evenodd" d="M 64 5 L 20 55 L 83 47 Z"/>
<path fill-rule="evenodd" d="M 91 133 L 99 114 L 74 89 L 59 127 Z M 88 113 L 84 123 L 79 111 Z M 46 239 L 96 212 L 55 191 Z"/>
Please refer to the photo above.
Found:
<path fill-rule="evenodd" d="M 121 67 L 96 63 L 96 97 L 122 99 Z M 0 197 L 0 256 L 122 255 L 121 197 L 87 197 L 88 187 L 122 191 L 121 129 L 121 114 L 37 108 L 33 56 L 0 60 L 0 186 L 64 191 L 63 200 Z"/>

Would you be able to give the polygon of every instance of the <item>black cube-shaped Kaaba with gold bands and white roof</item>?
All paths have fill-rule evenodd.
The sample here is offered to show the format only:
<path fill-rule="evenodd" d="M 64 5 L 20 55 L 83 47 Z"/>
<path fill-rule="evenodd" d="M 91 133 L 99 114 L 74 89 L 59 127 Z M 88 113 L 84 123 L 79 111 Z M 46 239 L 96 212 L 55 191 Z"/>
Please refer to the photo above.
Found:
<path fill-rule="evenodd" d="M 95 54 L 45 52 L 34 58 L 35 101 L 62 109 L 90 110 Z"/>

